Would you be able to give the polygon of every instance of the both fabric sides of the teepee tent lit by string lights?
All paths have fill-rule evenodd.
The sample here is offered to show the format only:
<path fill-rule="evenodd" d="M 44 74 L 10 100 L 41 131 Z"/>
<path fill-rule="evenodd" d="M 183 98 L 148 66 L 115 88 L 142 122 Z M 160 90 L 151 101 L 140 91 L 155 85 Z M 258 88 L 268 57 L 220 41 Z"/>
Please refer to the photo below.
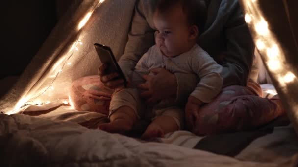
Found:
<path fill-rule="evenodd" d="M 294 32 L 297 15 L 291 8 L 297 2 L 240 0 L 240 3 L 273 84 L 298 128 L 298 49 Z M 11 114 L 26 107 L 40 110 L 71 103 L 70 84 L 80 77 L 97 74 L 100 61 L 94 43 L 110 46 L 117 58 L 123 54 L 134 4 L 135 0 L 74 1 L 19 81 L 1 98 L 0 111 Z"/>

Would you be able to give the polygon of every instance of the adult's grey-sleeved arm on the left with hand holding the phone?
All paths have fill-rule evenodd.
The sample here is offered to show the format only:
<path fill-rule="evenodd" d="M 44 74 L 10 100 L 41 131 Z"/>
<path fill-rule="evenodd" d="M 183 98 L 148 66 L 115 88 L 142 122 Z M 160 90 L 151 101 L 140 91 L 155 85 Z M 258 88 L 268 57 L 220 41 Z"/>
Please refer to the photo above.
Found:
<path fill-rule="evenodd" d="M 130 74 L 141 56 L 154 44 L 154 30 L 149 26 L 143 11 L 143 0 L 137 0 L 124 54 L 118 61 L 126 78 L 129 77 L 128 74 Z M 99 67 L 101 82 L 109 88 L 123 87 L 123 80 L 115 80 L 119 74 L 106 74 L 106 68 L 105 64 Z"/>

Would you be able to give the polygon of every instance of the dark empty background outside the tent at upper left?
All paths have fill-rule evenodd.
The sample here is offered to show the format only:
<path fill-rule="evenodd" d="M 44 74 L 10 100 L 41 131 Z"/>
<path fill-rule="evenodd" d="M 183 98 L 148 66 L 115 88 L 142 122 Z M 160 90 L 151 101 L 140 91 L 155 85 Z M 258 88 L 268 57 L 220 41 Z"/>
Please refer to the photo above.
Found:
<path fill-rule="evenodd" d="M 0 80 L 19 76 L 72 0 L 3 0 Z"/>

